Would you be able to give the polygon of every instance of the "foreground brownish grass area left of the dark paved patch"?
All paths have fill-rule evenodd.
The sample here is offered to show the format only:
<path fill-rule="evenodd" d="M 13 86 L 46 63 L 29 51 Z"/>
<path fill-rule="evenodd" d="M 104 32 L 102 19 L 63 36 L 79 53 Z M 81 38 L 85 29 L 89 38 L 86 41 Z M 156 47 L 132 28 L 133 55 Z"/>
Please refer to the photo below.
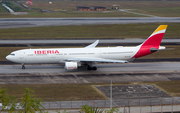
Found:
<path fill-rule="evenodd" d="M 17 98 L 22 97 L 25 88 L 34 90 L 35 98 L 42 99 L 60 99 L 61 100 L 89 100 L 89 99 L 106 99 L 104 95 L 97 92 L 94 87 L 88 84 L 13 84 L 0 85 L 0 87 L 7 89 L 11 95 Z"/>

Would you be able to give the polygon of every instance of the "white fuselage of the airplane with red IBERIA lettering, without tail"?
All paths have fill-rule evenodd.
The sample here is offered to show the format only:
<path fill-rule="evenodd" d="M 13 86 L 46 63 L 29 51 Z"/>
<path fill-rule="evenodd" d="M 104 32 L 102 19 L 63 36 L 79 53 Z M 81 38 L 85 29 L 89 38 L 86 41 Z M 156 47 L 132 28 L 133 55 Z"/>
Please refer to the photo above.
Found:
<path fill-rule="evenodd" d="M 138 52 L 139 48 L 140 46 L 23 49 L 12 52 L 6 58 L 16 63 L 61 63 L 70 58 L 103 58 L 127 61 Z"/>

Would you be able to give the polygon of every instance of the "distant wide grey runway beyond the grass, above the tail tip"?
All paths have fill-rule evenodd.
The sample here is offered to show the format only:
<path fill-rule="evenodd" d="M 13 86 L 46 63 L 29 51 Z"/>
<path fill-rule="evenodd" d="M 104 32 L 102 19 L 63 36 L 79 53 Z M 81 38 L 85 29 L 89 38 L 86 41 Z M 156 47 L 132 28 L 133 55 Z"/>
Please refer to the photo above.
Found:
<path fill-rule="evenodd" d="M 177 23 L 180 17 L 122 17 L 122 18 L 1 18 L 0 29 L 42 26 L 101 25 L 130 23 Z"/>

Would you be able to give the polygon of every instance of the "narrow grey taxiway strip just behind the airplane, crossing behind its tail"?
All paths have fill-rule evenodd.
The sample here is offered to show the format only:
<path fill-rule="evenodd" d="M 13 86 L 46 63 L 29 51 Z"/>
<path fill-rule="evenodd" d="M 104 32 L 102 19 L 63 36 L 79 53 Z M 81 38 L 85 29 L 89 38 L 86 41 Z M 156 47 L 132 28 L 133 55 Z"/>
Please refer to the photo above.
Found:
<path fill-rule="evenodd" d="M 144 39 L 142 38 L 125 38 L 125 39 L 116 39 L 116 38 L 111 38 L 111 39 L 98 39 L 99 44 L 123 44 L 123 43 L 132 43 L 136 44 L 139 43 L 141 44 L 146 40 L 147 37 Z M 0 40 L 0 44 L 91 44 L 97 39 L 55 39 L 55 40 Z M 170 43 L 180 43 L 180 39 L 162 39 L 162 44 L 170 44 Z"/>

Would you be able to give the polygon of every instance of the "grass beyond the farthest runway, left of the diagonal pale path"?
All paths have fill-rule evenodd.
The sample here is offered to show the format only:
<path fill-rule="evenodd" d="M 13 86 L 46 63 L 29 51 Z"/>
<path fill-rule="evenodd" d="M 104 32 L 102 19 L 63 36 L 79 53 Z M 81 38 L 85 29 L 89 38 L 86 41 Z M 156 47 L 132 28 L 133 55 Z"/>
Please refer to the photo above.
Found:
<path fill-rule="evenodd" d="M 142 17 L 141 15 L 129 14 L 124 12 L 76 12 L 59 11 L 51 13 L 42 13 L 38 11 L 26 11 L 28 15 L 11 15 L 10 13 L 0 13 L 0 18 L 70 18 L 70 17 Z"/>

